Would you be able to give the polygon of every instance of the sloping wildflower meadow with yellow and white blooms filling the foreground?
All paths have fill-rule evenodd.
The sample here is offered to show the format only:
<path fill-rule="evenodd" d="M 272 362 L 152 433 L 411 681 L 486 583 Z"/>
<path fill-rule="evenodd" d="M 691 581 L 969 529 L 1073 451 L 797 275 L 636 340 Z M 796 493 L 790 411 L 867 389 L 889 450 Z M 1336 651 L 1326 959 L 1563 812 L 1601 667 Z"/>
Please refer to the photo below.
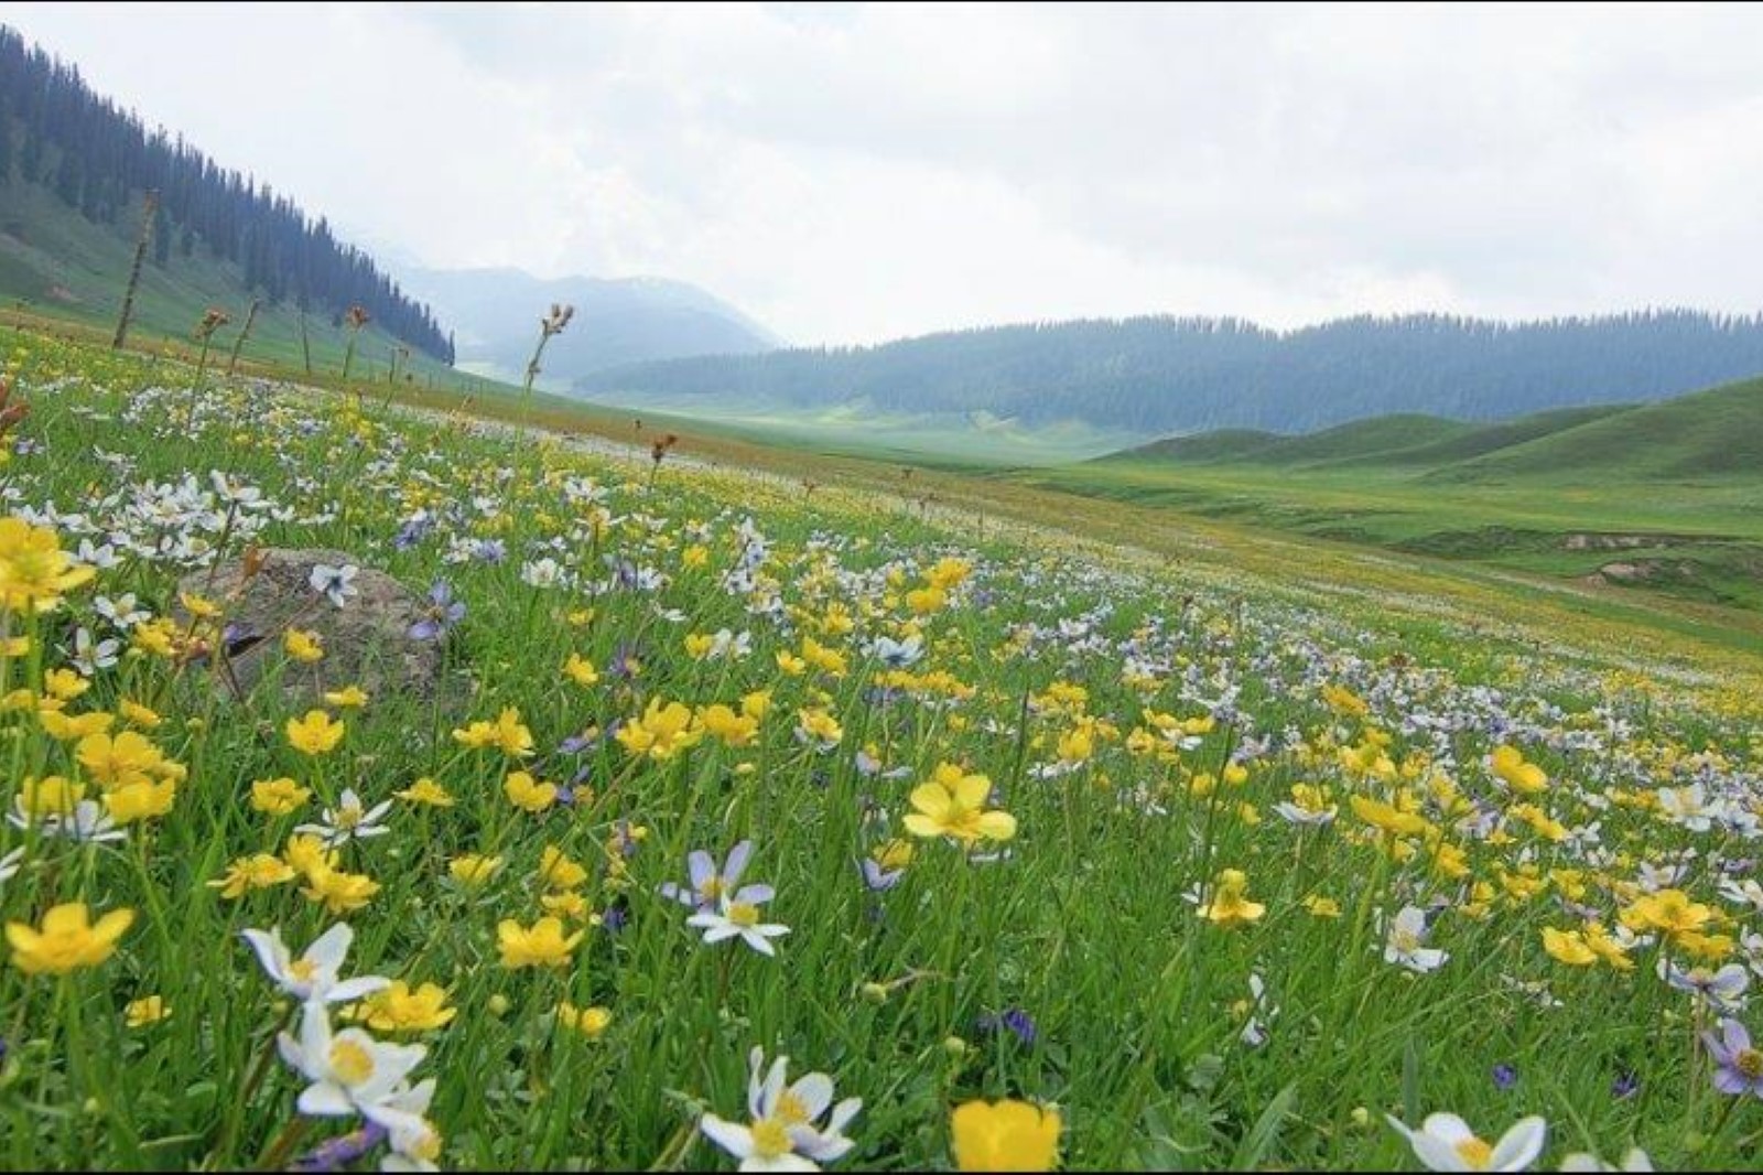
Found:
<path fill-rule="evenodd" d="M 5 1166 L 1756 1163 L 1749 688 L 0 360 Z M 335 554 L 249 630 L 277 550 Z M 372 573 L 432 679 L 328 670 Z"/>

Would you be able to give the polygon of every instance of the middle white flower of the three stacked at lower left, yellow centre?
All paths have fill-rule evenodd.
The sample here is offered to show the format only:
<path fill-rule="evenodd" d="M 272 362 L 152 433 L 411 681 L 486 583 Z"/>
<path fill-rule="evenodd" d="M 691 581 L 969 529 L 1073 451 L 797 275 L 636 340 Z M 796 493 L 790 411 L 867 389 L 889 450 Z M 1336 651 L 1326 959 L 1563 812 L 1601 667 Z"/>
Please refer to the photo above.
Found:
<path fill-rule="evenodd" d="M 393 1097 L 404 1078 L 423 1062 L 421 1044 L 384 1044 L 361 1029 L 331 1034 L 330 1009 L 309 1002 L 300 1013 L 300 1039 L 282 1032 L 277 1041 L 282 1060 L 312 1081 L 300 1092 L 300 1113 L 312 1117 L 365 1115 L 370 1122 L 409 1127 L 413 1117 Z"/>

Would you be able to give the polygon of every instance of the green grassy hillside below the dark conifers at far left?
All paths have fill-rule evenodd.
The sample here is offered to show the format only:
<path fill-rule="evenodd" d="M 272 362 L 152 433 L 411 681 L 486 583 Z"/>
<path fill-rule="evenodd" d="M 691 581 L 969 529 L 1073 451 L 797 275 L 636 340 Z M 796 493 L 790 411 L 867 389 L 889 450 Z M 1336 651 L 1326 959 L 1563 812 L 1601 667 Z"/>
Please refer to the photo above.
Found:
<path fill-rule="evenodd" d="M 132 236 L 86 221 L 48 189 L 16 182 L 0 185 L 0 311 L 113 330 L 132 259 Z M 164 266 L 148 259 L 141 268 L 130 342 L 145 346 L 155 337 L 178 339 L 194 349 L 190 332 L 208 307 L 220 307 L 233 319 L 213 341 L 224 362 L 250 307 L 243 272 L 236 265 L 215 261 L 201 245 L 189 258 L 171 249 Z M 331 325 L 330 314 L 309 314 L 307 337 L 314 370 L 337 374 L 347 344 L 346 332 Z M 398 346 L 368 325 L 356 346 L 351 372 L 383 379 Z M 291 303 L 264 303 L 242 358 L 301 369 L 305 355 L 298 309 Z M 416 379 L 455 379 L 451 369 L 414 348 L 398 365 Z"/>

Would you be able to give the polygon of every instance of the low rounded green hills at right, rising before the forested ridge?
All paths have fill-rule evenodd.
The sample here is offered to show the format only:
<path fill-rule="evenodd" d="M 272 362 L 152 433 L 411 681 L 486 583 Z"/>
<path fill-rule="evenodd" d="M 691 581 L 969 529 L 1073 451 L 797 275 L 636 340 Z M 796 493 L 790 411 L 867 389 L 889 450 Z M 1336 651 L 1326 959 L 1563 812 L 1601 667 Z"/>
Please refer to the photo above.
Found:
<path fill-rule="evenodd" d="M 1303 436 L 1222 429 L 1098 457 L 1098 466 L 1380 469 L 1425 482 L 1647 482 L 1756 476 L 1763 379 L 1657 404 L 1604 404 L 1474 425 L 1372 416 Z"/>

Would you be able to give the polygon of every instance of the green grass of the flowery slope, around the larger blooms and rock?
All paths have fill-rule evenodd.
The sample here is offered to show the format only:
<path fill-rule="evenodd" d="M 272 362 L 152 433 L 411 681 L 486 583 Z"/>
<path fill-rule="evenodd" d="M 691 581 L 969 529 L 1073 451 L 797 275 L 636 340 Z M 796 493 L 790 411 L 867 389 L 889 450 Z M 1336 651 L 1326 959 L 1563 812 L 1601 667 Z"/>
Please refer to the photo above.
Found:
<path fill-rule="evenodd" d="M 1587 616 L 1521 577 L 1008 480 L 908 480 L 696 436 L 681 445 L 689 464 L 652 468 L 640 452 L 413 411 L 457 395 L 197 390 L 167 360 L 41 333 L 0 335 L 0 353 L 30 404 L 30 445 L 0 468 L 11 508 L 53 503 L 63 549 L 86 526 L 141 540 L 51 609 L 11 614 L 7 632 L 33 640 L 0 662 L 0 801 L 11 810 L 26 778 L 51 773 L 123 801 L 122 748 L 56 739 L 39 716 L 51 688 L 63 716 L 115 715 L 116 732 L 145 723 L 125 699 L 150 706 L 160 722 L 139 734 L 180 766 L 150 769 L 169 806 L 120 845 L 0 826 L 0 856 L 21 850 L 0 882 L 0 921 L 19 928 L 0 956 L 11 1168 L 277 1168 L 358 1126 L 296 1110 L 307 1081 L 273 1039 L 301 1013 L 240 940 L 279 926 L 298 953 L 338 921 L 354 930 L 346 976 L 435 983 L 457 1011 L 372 1030 L 425 1046 L 411 1078 L 435 1081 L 427 1119 L 444 1166 L 726 1170 L 700 1122 L 746 1122 L 755 1046 L 864 1099 L 844 1168 L 947 1168 L 950 1110 L 980 1097 L 1056 1106 L 1074 1170 L 1412 1164 L 1384 1115 L 1440 1110 L 1490 1138 L 1544 1117 L 1546 1168 L 1631 1143 L 1666 1170 L 1751 1166 L 1763 1103 L 1712 1087 L 1696 1029 L 1714 1014 L 1654 963 L 1740 960 L 1738 932 L 1758 930 L 1756 909 L 1717 886 L 1744 877 L 1745 840 L 1668 819 L 1655 790 L 1754 803 L 1754 655 Z M 568 411 L 536 416 L 594 420 Z M 175 508 L 150 489 L 192 475 L 199 494 L 210 469 L 279 510 L 245 533 L 224 506 Z M 134 510 L 143 499 L 162 505 Z M 427 529 L 395 542 L 416 517 Z M 18 593 L 44 563 L 19 563 L 9 528 L 0 586 Z M 176 535 L 226 559 L 247 543 L 335 547 L 416 591 L 450 582 L 467 609 L 446 644 L 458 688 L 435 697 L 458 700 L 331 704 L 342 739 L 307 755 L 287 736 L 301 706 L 273 676 L 229 699 L 182 655 L 212 640 L 182 619 L 152 623 L 160 640 L 123 633 L 129 651 L 88 681 L 49 677 L 78 628 L 115 633 L 97 596 L 134 593 L 173 616 L 182 568 L 143 552 Z M 480 540 L 506 558 L 472 558 Z M 539 558 L 571 575 L 534 586 Z M 642 572 L 649 586 L 631 588 Z M 219 626 L 229 602 L 213 603 Z M 705 653 L 721 630 L 749 655 Z M 284 633 L 263 635 L 282 647 Z M 915 637 L 924 656 L 889 670 L 880 637 Z M 598 677 L 571 677 L 571 655 Z M 668 704 L 689 745 L 656 755 L 640 736 L 665 739 L 654 715 Z M 712 706 L 756 716 L 742 729 L 726 715 L 716 734 Z M 531 753 L 453 736 L 510 709 Z M 806 734 L 825 720 L 839 729 Z M 1525 783 L 1534 794 L 1488 767 L 1497 737 L 1546 773 Z M 152 759 L 139 743 L 122 757 Z M 915 834 L 906 817 L 936 812 L 917 789 L 940 764 L 989 780 L 975 796 L 1014 827 L 977 847 L 1007 856 L 970 861 Z M 573 797 L 515 806 L 517 767 L 573 782 Z M 310 789 L 296 812 L 254 806 L 252 782 L 279 776 Z M 418 778 L 453 805 L 398 797 Z M 1305 797 L 1298 785 L 1328 789 L 1335 820 L 1278 815 Z M 236 900 L 212 886 L 229 861 L 286 854 L 344 787 L 391 803 L 384 836 Z M 1380 831 L 1370 820 L 1387 817 L 1365 801 L 1410 822 Z M 703 944 L 658 893 L 684 880 L 691 850 L 719 861 L 742 840 L 744 880 L 774 886 L 765 917 L 790 926 L 776 958 Z M 910 861 L 896 887 L 869 891 L 857 859 L 894 840 Z M 582 875 L 548 886 L 547 850 Z M 465 886 L 450 868 L 464 854 L 501 866 Z M 1735 939 L 1673 932 L 1629 946 L 1633 970 L 1544 949 L 1544 930 L 1590 917 L 1645 932 L 1655 907 L 1638 870 L 1668 859 L 1689 863 L 1680 886 L 1707 903 L 1684 924 Z M 1243 903 L 1220 900 L 1231 870 Z M 314 894 L 338 872 L 377 889 L 326 909 Z M 545 896 L 580 940 L 557 969 L 504 965 L 504 924 L 532 926 Z M 134 923 L 115 954 L 30 974 L 23 930 L 63 902 Z M 1449 958 L 1430 974 L 1386 958 L 1405 907 L 1439 910 L 1430 946 Z M 171 1016 L 129 1027 L 145 997 Z M 603 1036 L 559 1023 L 562 1002 L 605 1007 Z M 984 1027 L 1010 1009 L 1033 1032 Z M 340 1006 L 323 1014 L 346 1023 Z M 1509 1089 L 1495 1066 L 1511 1066 Z M 1629 1076 L 1636 1092 L 1613 1096 Z"/>

